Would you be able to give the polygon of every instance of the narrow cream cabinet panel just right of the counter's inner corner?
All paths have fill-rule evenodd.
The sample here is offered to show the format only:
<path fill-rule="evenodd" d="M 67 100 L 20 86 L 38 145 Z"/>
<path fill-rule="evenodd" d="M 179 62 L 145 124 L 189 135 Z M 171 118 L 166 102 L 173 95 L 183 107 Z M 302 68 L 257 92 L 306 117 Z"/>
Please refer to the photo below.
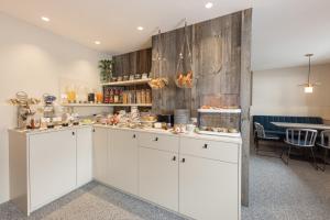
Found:
<path fill-rule="evenodd" d="M 108 129 L 94 129 L 92 173 L 94 178 L 107 184 L 108 182 Z"/>

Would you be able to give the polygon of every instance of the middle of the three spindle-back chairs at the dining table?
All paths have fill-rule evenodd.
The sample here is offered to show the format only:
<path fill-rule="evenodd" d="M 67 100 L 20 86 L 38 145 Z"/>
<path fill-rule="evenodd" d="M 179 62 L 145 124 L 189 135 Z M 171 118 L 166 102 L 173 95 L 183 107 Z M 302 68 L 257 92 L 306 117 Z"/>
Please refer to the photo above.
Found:
<path fill-rule="evenodd" d="M 284 151 L 282 152 L 280 158 L 283 162 L 288 165 L 289 158 L 290 158 L 290 153 L 292 148 L 308 148 L 310 150 L 312 160 L 314 160 L 314 166 L 316 169 L 318 169 L 315 154 L 314 154 L 314 146 L 316 142 L 318 131 L 317 130 L 311 130 L 311 129 L 287 129 L 286 130 L 286 139 L 285 143 L 288 145 L 288 151 L 287 151 L 287 160 L 285 161 L 283 158 Z"/>

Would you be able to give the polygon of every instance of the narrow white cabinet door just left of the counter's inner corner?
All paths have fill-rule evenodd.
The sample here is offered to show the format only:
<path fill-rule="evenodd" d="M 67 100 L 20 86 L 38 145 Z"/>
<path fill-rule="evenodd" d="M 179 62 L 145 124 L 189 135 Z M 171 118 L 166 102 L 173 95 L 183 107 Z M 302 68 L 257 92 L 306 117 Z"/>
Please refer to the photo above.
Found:
<path fill-rule="evenodd" d="M 92 179 L 92 135 L 91 128 L 77 129 L 77 186 Z"/>

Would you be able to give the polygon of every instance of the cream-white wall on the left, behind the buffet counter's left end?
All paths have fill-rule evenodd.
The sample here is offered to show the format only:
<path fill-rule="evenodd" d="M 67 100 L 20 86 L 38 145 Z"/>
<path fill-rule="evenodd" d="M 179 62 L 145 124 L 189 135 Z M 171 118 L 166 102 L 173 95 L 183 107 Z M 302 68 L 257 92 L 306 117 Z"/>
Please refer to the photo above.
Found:
<path fill-rule="evenodd" d="M 97 88 L 97 62 L 106 55 L 2 13 L 0 30 L 1 204 L 9 199 L 7 130 L 15 127 L 15 108 L 6 100 L 20 90 L 36 98 L 44 92 L 58 96 L 66 80 Z"/>

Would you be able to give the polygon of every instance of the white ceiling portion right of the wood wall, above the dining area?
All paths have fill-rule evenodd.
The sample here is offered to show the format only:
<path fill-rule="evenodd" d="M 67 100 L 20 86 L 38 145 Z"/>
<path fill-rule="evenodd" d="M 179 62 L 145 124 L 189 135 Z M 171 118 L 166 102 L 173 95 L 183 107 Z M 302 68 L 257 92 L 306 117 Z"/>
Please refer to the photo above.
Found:
<path fill-rule="evenodd" d="M 253 0 L 254 70 L 330 63 L 330 0 Z"/>

